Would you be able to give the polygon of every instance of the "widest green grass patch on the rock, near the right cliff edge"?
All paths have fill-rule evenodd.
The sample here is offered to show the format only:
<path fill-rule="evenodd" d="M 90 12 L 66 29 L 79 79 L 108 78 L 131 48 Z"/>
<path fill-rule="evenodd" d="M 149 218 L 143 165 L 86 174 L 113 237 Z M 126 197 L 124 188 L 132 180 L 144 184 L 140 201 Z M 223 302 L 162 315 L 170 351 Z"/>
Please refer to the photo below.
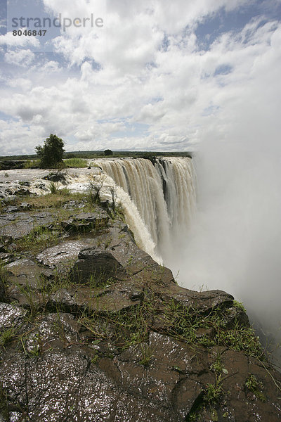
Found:
<path fill-rule="evenodd" d="M 157 309 L 161 309 L 161 312 Z M 127 347 L 148 340 L 151 329 L 170 335 L 173 338 L 189 343 L 194 346 L 224 345 L 233 350 L 244 350 L 247 354 L 263 359 L 263 350 L 252 328 L 237 324 L 233 321 L 232 328 L 226 328 L 229 324 L 228 309 L 215 307 L 209 312 L 202 314 L 197 309 L 176 304 L 173 300 L 162 302 L 155 295 L 148 292 L 140 305 L 126 309 L 126 312 L 117 312 L 112 315 L 100 315 L 98 312 L 83 317 L 87 326 L 96 324 L 101 319 L 115 327 L 115 341 L 117 347 L 122 350 Z M 160 328 L 153 327 L 151 321 L 157 319 Z M 81 321 L 81 324 L 84 322 Z M 198 335 L 200 328 L 212 328 L 213 338 L 209 339 L 208 345 L 204 344 L 202 337 Z M 228 335 L 228 332 L 231 334 Z M 236 338 L 237 337 L 237 338 Z M 219 376 L 219 362 L 214 366 L 214 371 Z M 221 372 L 226 369 L 221 367 Z"/>

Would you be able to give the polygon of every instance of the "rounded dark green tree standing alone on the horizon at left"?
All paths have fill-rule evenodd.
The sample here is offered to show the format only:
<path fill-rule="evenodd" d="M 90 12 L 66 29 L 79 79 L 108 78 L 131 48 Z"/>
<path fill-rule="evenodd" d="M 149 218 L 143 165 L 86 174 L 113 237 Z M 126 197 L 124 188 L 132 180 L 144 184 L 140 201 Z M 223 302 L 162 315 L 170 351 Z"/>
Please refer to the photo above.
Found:
<path fill-rule="evenodd" d="M 58 136 L 50 134 L 44 142 L 44 146 L 36 146 L 35 151 L 40 158 L 40 167 L 57 167 L 58 163 L 63 162 L 63 153 L 65 143 Z"/>

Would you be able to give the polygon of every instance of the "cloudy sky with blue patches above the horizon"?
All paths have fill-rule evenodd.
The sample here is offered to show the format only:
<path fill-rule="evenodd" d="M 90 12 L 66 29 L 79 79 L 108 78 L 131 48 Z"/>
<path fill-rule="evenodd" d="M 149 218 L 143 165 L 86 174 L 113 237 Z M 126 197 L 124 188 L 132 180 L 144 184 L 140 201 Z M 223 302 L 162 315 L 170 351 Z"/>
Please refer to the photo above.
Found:
<path fill-rule="evenodd" d="M 248 137 L 266 150 L 280 134 L 281 0 L 0 4 L 0 155 L 34 153 L 50 133 L 66 151 L 197 151 Z M 13 35 L 11 18 L 35 13 L 103 26 Z"/>

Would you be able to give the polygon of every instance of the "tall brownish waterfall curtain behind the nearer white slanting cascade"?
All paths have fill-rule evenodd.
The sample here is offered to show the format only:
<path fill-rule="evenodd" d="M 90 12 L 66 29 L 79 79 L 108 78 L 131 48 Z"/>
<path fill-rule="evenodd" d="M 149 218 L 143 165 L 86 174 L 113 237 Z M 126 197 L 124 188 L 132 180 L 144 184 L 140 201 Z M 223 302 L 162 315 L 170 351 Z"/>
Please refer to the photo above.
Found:
<path fill-rule="evenodd" d="M 157 245 L 169 255 L 173 241 L 186 232 L 195 213 L 195 171 L 190 158 L 95 160 L 95 165 L 126 192 Z M 136 227 L 136 224 L 135 224 Z"/>

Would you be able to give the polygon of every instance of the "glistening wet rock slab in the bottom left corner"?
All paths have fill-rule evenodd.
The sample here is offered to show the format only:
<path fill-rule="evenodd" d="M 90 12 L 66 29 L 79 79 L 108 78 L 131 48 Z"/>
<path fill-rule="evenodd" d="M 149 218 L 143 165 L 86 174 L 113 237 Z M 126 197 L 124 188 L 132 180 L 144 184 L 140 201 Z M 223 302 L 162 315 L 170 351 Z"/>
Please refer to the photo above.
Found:
<path fill-rule="evenodd" d="M 167 409 L 124 391 L 83 352 L 52 351 L 38 359 L 15 354 L 1 378 L 15 408 L 27 409 L 28 392 L 32 422 L 171 422 Z"/>

